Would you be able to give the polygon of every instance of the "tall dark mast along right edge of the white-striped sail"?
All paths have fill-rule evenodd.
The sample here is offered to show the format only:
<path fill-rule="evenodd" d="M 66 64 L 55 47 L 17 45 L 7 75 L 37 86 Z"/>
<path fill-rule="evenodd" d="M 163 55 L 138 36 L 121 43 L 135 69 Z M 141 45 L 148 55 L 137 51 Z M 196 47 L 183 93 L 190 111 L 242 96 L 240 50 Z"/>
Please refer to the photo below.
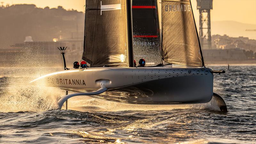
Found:
<path fill-rule="evenodd" d="M 132 33 L 132 0 L 126 0 L 127 13 L 127 47 L 128 47 L 128 65 L 134 67 L 133 62 L 133 33 Z"/>

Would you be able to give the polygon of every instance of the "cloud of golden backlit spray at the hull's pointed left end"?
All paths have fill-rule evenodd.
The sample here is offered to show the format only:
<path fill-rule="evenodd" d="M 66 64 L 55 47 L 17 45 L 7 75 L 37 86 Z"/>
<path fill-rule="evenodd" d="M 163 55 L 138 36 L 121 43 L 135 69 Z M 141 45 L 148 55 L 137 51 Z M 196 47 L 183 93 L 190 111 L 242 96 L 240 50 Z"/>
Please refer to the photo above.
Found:
<path fill-rule="evenodd" d="M 3 69 L 2 69 L 3 70 Z M 6 79 L 1 83 L 0 112 L 45 111 L 56 108 L 56 100 L 65 93 L 57 88 L 30 85 L 29 81 L 47 69 L 34 68 L 3 70 Z M 28 77 L 30 76 L 30 77 Z"/>

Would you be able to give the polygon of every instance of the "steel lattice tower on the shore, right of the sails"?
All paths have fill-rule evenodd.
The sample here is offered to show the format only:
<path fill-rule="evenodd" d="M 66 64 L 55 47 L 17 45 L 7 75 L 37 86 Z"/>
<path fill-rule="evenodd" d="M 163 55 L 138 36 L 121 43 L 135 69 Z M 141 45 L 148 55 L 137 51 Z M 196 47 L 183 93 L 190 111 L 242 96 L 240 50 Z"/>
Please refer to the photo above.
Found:
<path fill-rule="evenodd" d="M 196 0 L 199 10 L 199 39 L 203 49 L 212 49 L 211 16 L 212 0 Z"/>

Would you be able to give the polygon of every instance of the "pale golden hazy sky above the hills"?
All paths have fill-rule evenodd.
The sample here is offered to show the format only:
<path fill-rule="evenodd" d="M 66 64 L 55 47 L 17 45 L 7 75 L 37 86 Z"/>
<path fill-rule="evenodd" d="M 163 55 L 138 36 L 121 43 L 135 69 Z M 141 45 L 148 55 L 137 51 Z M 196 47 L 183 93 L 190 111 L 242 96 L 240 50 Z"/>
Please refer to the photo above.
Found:
<path fill-rule="evenodd" d="M 35 4 L 37 7 L 44 8 L 49 6 L 54 8 L 62 6 L 65 9 L 75 9 L 84 11 L 84 0 L 0 0 L 5 4 Z M 196 10 L 196 0 L 191 0 L 198 20 L 198 10 Z M 256 0 L 213 0 L 213 10 L 211 20 L 233 20 L 242 23 L 256 24 Z"/>

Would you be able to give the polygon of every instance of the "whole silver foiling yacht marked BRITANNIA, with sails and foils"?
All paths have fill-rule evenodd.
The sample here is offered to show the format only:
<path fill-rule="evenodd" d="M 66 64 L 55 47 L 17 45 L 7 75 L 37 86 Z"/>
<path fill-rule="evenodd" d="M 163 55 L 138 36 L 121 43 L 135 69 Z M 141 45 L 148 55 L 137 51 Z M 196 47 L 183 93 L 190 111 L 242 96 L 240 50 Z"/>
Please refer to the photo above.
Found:
<path fill-rule="evenodd" d="M 220 110 L 227 111 L 224 100 L 213 92 L 213 74 L 224 71 L 204 66 L 190 1 L 162 0 L 160 10 L 157 1 L 144 2 L 147 5 L 135 0 L 133 5 L 131 0 L 87 0 L 82 57 L 87 67 L 65 68 L 30 83 L 73 92 L 60 98 L 59 108 L 78 95 L 132 104 L 196 104 L 214 97 Z M 140 17 L 138 9 L 152 15 Z M 154 34 L 133 35 L 132 20 L 152 25 Z M 152 37 L 158 48 L 134 49 L 133 39 Z M 146 62 L 154 65 L 135 67 L 136 52 L 148 54 Z"/>

